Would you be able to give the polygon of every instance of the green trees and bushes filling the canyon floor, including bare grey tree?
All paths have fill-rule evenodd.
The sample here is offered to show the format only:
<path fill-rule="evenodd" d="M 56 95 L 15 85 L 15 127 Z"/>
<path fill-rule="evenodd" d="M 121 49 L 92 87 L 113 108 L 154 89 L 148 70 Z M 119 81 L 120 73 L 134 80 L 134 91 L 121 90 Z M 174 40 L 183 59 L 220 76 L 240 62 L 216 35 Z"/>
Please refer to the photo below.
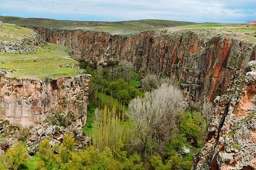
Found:
<path fill-rule="evenodd" d="M 65 135 L 54 147 L 44 140 L 29 158 L 19 142 L 0 157 L 0 169 L 191 169 L 206 120 L 181 107 L 181 91 L 169 79 L 139 75 L 128 62 L 82 66 L 92 74 L 83 128 L 91 145 L 76 149 Z"/>

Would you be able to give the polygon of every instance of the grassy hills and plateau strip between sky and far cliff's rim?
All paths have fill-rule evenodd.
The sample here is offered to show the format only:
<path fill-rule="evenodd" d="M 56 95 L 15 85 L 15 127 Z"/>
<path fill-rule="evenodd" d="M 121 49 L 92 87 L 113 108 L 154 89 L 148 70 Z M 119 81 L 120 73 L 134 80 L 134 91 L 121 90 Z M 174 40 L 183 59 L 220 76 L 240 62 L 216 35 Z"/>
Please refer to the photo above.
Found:
<path fill-rule="evenodd" d="M 216 30 L 217 32 L 228 33 L 235 37 L 255 41 L 256 27 L 247 26 L 247 23 L 193 23 L 186 21 L 167 20 L 138 20 L 138 21 L 67 21 L 47 18 L 21 18 L 14 16 L 0 16 L 0 21 L 13 23 L 17 26 L 43 27 L 58 29 L 80 29 L 96 32 L 107 32 L 112 35 L 130 35 L 144 30 Z"/>

